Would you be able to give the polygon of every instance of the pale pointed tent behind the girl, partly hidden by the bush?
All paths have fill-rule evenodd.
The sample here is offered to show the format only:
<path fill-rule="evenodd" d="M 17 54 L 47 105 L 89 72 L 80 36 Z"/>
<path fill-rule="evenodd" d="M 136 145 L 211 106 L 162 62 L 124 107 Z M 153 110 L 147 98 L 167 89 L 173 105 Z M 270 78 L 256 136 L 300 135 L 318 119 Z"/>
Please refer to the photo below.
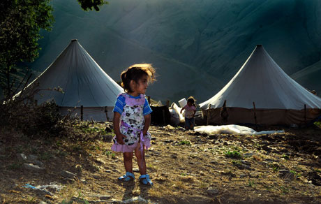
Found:
<path fill-rule="evenodd" d="M 48 91 L 61 87 L 63 92 Z M 54 60 L 27 89 L 39 89 L 35 99 L 38 104 L 54 99 L 62 114 L 83 106 L 83 118 L 96 121 L 111 120 L 117 95 L 124 90 L 91 58 L 77 40 Z"/>

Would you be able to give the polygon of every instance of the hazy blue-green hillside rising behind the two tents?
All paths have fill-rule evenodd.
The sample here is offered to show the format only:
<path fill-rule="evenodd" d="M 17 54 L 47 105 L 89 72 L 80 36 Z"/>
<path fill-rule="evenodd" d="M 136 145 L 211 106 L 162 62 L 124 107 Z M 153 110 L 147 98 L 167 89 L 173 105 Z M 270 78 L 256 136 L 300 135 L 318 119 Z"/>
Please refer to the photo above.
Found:
<path fill-rule="evenodd" d="M 158 67 L 148 93 L 157 100 L 209 99 L 257 44 L 289 75 L 320 60 L 318 0 L 111 0 L 98 13 L 76 1 L 52 3 L 56 22 L 33 70 L 43 71 L 77 38 L 114 80 L 130 64 Z"/>

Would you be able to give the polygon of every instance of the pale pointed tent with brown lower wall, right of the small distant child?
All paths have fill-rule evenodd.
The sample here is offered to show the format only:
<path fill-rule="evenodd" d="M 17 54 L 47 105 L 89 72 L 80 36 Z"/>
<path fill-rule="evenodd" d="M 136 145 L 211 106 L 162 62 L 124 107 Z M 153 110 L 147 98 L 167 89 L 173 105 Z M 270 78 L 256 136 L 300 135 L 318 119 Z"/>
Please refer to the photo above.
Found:
<path fill-rule="evenodd" d="M 321 99 L 292 80 L 262 45 L 220 92 L 200 103 L 210 122 L 221 122 L 224 101 L 230 124 L 302 124 L 318 117 L 321 108 Z"/>

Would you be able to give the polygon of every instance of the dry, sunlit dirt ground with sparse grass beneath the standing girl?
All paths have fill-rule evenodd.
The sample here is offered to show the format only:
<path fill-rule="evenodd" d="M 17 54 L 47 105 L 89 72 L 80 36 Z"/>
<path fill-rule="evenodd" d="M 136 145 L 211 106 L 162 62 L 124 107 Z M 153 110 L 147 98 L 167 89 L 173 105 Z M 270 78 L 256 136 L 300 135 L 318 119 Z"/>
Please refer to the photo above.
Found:
<path fill-rule="evenodd" d="M 321 129 L 255 130 L 280 129 L 236 136 L 151 126 L 146 159 L 154 187 L 138 182 L 135 159 L 136 180 L 117 180 L 124 164 L 110 138 L 30 140 L 2 132 L 0 203 L 321 203 Z M 44 169 L 25 168 L 17 154 L 38 156 Z"/>

